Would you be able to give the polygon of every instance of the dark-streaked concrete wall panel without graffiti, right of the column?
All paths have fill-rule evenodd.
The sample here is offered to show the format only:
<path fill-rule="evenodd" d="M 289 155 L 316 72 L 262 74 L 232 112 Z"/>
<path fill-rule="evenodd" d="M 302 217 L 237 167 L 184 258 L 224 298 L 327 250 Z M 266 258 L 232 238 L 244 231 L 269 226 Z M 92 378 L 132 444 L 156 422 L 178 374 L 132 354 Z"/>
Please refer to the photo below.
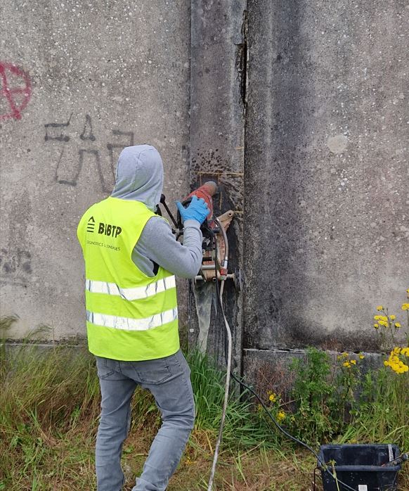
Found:
<path fill-rule="evenodd" d="M 246 356 L 371 350 L 409 288 L 408 2 L 247 10 Z"/>

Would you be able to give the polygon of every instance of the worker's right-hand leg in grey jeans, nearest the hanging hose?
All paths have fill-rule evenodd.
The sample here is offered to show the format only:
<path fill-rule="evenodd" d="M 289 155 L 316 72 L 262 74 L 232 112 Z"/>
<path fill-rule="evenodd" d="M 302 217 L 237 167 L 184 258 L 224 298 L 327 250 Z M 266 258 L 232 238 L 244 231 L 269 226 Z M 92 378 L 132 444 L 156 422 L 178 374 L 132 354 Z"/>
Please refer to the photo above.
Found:
<path fill-rule="evenodd" d="M 171 357 L 137 362 L 139 381 L 155 397 L 162 426 L 132 491 L 163 491 L 174 473 L 195 421 L 190 369 L 179 350 Z"/>

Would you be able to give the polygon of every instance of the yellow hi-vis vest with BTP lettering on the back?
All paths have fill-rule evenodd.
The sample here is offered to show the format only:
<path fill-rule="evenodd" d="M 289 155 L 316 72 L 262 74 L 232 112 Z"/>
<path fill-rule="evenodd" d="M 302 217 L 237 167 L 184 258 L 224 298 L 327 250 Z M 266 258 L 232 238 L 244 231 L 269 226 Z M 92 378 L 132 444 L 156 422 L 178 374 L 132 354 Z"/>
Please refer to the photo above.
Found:
<path fill-rule="evenodd" d="M 159 267 L 156 276 L 146 276 L 131 259 L 153 216 L 139 201 L 110 197 L 91 206 L 79 222 L 86 328 L 94 355 L 138 361 L 179 349 L 174 275 Z"/>

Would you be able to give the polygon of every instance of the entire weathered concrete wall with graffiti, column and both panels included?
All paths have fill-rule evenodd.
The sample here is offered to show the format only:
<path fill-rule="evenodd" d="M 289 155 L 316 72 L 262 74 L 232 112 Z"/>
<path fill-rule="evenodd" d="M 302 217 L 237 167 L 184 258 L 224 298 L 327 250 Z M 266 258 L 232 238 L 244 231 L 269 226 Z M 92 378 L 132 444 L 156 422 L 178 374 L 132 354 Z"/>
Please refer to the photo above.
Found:
<path fill-rule="evenodd" d="M 1 66 L 22 89 L 0 106 L 1 307 L 18 333 L 84 333 L 75 227 L 133 139 L 162 152 L 169 198 L 213 177 L 216 211 L 237 212 L 236 368 L 377 347 L 374 307 L 398 313 L 409 287 L 406 1 L 28 5 L 1 5 Z M 222 332 L 214 312 L 219 354 Z"/>

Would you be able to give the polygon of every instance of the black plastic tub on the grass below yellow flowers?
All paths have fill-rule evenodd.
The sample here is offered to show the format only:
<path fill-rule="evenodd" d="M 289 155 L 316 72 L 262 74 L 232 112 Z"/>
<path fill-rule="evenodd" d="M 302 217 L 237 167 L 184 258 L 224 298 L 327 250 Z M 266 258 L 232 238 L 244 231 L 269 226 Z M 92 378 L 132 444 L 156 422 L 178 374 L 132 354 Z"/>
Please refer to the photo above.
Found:
<path fill-rule="evenodd" d="M 395 491 L 398 487 L 398 471 L 401 465 L 382 467 L 399 456 L 396 445 L 321 445 L 318 468 L 323 476 L 324 491 L 338 491 L 332 478 L 331 461 L 337 478 L 356 491 Z M 327 465 L 327 470 L 322 463 Z M 339 491 L 350 491 L 338 483 Z"/>

